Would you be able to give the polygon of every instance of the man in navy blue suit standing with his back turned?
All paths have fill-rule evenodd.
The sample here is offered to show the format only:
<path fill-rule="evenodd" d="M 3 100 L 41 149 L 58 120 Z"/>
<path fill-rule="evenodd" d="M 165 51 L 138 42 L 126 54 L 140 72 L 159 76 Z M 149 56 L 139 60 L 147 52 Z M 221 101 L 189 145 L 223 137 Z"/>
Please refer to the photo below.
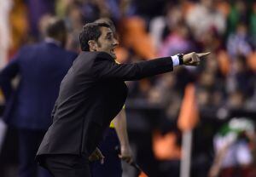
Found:
<path fill-rule="evenodd" d="M 0 73 L 0 84 L 7 100 L 3 118 L 18 129 L 19 176 L 37 176 L 34 161 L 38 146 L 52 122 L 51 111 L 58 96 L 61 80 L 77 54 L 63 49 L 67 31 L 63 20 L 50 17 L 43 43 L 20 49 Z M 20 81 L 13 89 L 11 81 Z M 49 176 L 41 168 L 38 175 Z M 47 172 L 48 173 L 48 172 Z"/>

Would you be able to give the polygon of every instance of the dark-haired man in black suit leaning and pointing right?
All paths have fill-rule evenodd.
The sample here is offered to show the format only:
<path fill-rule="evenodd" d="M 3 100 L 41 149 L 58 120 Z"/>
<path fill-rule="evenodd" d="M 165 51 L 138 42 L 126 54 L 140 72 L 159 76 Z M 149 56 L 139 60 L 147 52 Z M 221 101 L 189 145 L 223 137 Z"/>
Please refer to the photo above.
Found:
<path fill-rule="evenodd" d="M 53 123 L 38 149 L 38 162 L 55 177 L 90 176 L 89 161 L 101 159 L 96 148 L 105 128 L 122 109 L 124 81 L 197 66 L 204 54 L 179 54 L 134 64 L 117 64 L 119 44 L 106 23 L 89 23 L 80 33 L 82 52 L 61 82 Z"/>

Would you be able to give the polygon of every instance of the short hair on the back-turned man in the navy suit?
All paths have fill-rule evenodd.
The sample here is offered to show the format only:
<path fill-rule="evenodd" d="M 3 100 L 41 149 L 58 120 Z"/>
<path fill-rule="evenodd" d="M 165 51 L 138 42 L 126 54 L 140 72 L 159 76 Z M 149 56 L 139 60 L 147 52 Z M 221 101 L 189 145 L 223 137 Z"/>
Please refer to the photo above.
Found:
<path fill-rule="evenodd" d="M 64 20 L 58 18 L 50 18 L 47 26 L 45 27 L 45 34 L 47 37 L 57 37 L 60 32 L 66 31 L 66 24 Z"/>

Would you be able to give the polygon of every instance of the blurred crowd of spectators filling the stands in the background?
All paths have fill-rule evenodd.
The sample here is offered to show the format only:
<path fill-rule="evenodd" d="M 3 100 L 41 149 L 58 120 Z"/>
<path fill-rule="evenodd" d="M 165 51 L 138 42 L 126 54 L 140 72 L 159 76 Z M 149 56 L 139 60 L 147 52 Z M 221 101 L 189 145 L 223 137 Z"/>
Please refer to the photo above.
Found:
<path fill-rule="evenodd" d="M 66 21 L 66 49 L 77 53 L 85 23 L 113 20 L 121 63 L 211 51 L 201 66 L 127 82 L 134 157 L 150 176 L 179 176 L 184 129 L 177 122 L 192 84 L 199 118 L 187 126 L 193 129 L 190 176 L 256 177 L 255 1 L 1 0 L 0 66 L 23 45 L 42 40 L 51 15 Z M 0 102 L 3 108 L 4 99 Z M 0 176 L 6 177 L 15 176 L 18 163 L 15 129 L 9 131 L 0 157 Z M 124 170 L 124 176 L 137 176 L 135 169 Z"/>

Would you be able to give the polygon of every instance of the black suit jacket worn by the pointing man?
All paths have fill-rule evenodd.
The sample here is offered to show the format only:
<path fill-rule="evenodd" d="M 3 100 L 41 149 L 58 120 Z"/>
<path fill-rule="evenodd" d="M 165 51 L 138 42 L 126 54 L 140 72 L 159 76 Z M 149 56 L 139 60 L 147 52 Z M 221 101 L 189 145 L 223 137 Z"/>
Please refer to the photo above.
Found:
<path fill-rule="evenodd" d="M 38 149 L 44 154 L 81 154 L 96 149 L 105 128 L 125 104 L 124 81 L 172 71 L 172 58 L 116 64 L 104 52 L 81 52 L 61 82 L 49 127 Z"/>

